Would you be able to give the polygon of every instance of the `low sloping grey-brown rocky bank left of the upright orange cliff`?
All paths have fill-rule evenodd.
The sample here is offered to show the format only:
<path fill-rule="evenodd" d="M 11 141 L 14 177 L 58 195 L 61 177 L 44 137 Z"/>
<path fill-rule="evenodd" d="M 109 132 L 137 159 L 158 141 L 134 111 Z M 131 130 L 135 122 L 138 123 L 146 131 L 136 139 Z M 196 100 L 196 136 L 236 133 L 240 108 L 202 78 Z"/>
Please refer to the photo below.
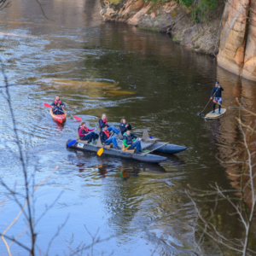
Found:
<path fill-rule="evenodd" d="M 218 55 L 224 3 L 212 9 L 205 22 L 195 22 L 191 11 L 174 1 L 161 4 L 143 0 L 101 0 L 105 21 L 125 22 L 138 28 L 166 32 L 172 41 L 196 52 Z"/>

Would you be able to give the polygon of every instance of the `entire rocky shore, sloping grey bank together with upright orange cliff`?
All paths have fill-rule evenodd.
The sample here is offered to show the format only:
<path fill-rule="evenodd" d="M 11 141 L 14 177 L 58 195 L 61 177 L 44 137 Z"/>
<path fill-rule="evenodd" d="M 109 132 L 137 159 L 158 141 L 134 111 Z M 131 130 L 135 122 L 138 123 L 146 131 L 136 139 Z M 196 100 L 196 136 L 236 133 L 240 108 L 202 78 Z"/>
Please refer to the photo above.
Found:
<path fill-rule="evenodd" d="M 100 0 L 106 21 L 172 35 L 172 40 L 195 51 L 218 55 L 218 65 L 256 81 L 255 0 L 229 0 L 212 10 L 207 22 L 198 22 L 183 5 L 143 0 Z"/>

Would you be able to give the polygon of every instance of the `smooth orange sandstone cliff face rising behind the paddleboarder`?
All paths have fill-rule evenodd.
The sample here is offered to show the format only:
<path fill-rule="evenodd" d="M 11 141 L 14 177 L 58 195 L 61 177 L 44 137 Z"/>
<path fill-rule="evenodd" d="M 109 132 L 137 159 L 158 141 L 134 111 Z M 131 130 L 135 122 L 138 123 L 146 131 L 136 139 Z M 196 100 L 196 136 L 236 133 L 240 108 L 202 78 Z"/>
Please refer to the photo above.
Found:
<path fill-rule="evenodd" d="M 226 3 L 218 53 L 219 66 L 253 81 L 256 81 L 255 8 L 255 0 Z"/>

